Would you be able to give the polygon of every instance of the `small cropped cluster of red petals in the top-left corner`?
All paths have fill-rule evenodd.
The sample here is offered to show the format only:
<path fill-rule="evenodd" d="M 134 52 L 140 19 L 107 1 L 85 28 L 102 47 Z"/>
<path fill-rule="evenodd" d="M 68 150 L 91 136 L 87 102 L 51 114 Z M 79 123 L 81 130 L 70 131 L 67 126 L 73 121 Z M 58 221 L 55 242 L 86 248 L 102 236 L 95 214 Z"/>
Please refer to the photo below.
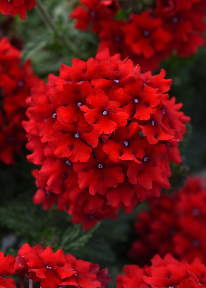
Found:
<path fill-rule="evenodd" d="M 13 16 L 19 13 L 22 20 L 25 20 L 27 10 L 36 5 L 35 0 L 0 0 L 0 11 L 3 15 L 11 13 Z"/>

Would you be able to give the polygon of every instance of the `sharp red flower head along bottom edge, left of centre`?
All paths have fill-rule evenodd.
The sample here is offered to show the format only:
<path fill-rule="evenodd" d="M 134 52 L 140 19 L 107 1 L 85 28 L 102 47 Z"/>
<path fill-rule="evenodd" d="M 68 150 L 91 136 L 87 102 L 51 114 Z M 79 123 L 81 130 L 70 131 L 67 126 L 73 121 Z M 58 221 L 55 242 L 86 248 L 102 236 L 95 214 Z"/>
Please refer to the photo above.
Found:
<path fill-rule="evenodd" d="M 98 264 L 76 259 L 71 254 L 65 255 L 62 249 L 54 253 L 51 247 L 42 249 L 40 245 L 36 245 L 32 248 L 25 243 L 19 249 L 16 262 L 19 268 L 28 271 L 29 279 L 40 282 L 42 288 L 67 285 L 105 288 L 110 281 L 106 268 L 99 270 Z M 21 270 L 17 272 L 21 273 Z"/>

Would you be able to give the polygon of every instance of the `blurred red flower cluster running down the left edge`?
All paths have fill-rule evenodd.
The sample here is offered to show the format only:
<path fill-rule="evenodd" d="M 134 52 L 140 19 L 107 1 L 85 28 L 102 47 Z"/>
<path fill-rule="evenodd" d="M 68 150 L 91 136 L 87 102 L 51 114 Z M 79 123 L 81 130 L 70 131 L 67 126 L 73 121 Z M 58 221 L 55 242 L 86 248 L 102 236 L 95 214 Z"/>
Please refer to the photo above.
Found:
<path fill-rule="evenodd" d="M 25 100 L 39 79 L 30 62 L 20 66 L 20 51 L 6 37 L 0 41 L 0 161 L 13 164 L 14 153 L 20 154 L 26 142 L 22 120 L 27 119 Z"/>

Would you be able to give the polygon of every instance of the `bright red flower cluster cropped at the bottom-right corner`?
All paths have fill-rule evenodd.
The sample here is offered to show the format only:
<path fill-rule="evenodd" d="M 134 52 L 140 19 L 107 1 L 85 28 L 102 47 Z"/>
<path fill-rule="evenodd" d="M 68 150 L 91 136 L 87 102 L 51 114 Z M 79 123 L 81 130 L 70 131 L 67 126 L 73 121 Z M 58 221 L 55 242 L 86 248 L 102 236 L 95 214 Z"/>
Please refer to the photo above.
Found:
<path fill-rule="evenodd" d="M 151 266 L 128 265 L 117 276 L 117 288 L 206 288 L 206 266 L 196 258 L 191 264 L 171 254 L 157 254 Z"/>

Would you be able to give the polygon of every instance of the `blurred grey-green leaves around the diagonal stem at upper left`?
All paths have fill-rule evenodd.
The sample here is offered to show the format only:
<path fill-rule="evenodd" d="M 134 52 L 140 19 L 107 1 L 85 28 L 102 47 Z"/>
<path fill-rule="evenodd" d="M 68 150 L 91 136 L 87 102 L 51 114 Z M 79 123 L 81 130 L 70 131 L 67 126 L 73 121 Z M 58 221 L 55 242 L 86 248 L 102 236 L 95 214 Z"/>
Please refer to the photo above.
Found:
<path fill-rule="evenodd" d="M 61 64 L 70 65 L 74 57 L 88 59 L 94 56 L 97 37 L 91 32 L 81 32 L 73 28 L 74 21 L 69 19 L 69 13 L 73 10 L 75 1 L 43 2 L 64 41 L 59 41 L 54 31 L 45 25 L 37 8 L 29 11 L 26 21 L 16 17 L 14 25 L 18 25 L 18 36 L 21 39 L 24 36 L 23 60 L 31 58 L 36 74 L 46 77 L 49 73 L 58 74 Z M 76 48 L 75 55 L 64 43 L 68 39 Z"/>

